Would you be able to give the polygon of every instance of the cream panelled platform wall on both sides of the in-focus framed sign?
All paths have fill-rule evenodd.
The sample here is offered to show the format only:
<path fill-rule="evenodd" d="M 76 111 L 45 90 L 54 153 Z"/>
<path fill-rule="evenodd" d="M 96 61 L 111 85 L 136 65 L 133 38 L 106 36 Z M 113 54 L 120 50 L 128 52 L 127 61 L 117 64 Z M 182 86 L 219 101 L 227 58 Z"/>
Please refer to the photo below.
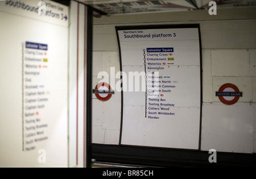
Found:
<path fill-rule="evenodd" d="M 203 11 L 201 13 L 204 14 Z M 111 66 L 115 67 L 115 73 L 119 70 L 115 26 L 199 23 L 203 65 L 201 149 L 255 152 L 256 17 L 251 17 L 250 14 L 236 14 L 244 19 L 232 19 L 230 15 L 223 14 L 217 20 L 210 20 L 209 17 L 204 20 L 201 16 L 199 18 L 199 12 L 194 14 L 195 19 L 191 21 L 186 21 L 186 18 L 181 16 L 181 21 L 170 18 L 172 20 L 169 22 L 164 18 L 163 22 L 151 22 L 151 16 L 155 19 L 157 13 L 148 15 L 148 21 L 143 15 L 143 23 L 139 15 L 110 16 L 104 17 L 102 21 L 96 19 L 93 27 L 93 85 L 100 81 L 97 79 L 100 70 L 110 72 Z M 159 19 L 162 15 L 159 14 Z M 193 16 L 193 13 L 191 15 Z M 191 19 L 191 16 L 187 19 Z M 224 105 L 215 96 L 220 86 L 228 82 L 237 85 L 243 92 L 239 101 L 231 106 Z M 93 99 L 93 143 L 118 144 L 120 122 L 121 93 L 115 93 L 107 102 Z"/>

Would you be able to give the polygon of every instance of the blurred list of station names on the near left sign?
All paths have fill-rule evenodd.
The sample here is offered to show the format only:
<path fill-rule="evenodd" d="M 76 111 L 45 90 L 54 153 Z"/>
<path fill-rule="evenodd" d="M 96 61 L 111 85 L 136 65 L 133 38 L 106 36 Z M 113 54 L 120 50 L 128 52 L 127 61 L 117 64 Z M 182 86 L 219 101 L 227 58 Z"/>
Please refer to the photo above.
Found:
<path fill-rule="evenodd" d="M 48 44 L 25 41 L 22 47 L 23 151 L 36 150 L 40 142 L 47 141 L 49 123 L 43 117 L 48 113 L 51 98 L 46 90 L 49 74 Z M 46 112 L 47 111 L 47 112 Z"/>

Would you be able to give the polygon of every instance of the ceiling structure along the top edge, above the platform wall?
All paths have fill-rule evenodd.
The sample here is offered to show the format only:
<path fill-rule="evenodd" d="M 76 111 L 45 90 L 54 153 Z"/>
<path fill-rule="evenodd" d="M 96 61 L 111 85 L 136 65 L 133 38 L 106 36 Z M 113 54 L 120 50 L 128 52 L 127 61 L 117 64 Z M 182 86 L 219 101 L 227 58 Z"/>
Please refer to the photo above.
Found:
<path fill-rule="evenodd" d="M 54 0 L 53 0 L 54 1 Z M 68 0 L 55 0 L 61 3 Z M 188 11 L 209 8 L 210 0 L 76 0 L 106 14 Z M 256 0 L 215 0 L 217 8 L 256 6 Z"/>

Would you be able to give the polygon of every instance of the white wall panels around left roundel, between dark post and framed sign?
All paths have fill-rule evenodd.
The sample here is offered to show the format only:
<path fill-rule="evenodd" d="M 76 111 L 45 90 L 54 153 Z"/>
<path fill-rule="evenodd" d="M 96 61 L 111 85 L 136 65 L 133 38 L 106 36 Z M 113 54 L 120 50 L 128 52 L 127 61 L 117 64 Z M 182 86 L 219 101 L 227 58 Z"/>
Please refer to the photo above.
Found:
<path fill-rule="evenodd" d="M 108 38 L 108 35 L 106 35 L 106 37 Z M 104 38 L 101 38 L 100 41 L 104 41 Z M 107 48 L 109 46 L 111 45 L 108 45 Z M 119 80 L 119 78 L 116 77 L 116 73 L 119 71 L 120 66 L 117 51 L 93 52 L 93 87 L 102 80 L 100 74 L 104 73 L 100 72 L 106 72 L 109 74 L 108 83 L 110 84 L 110 78 L 113 78 L 114 82 Z M 114 86 L 112 86 L 112 89 L 113 88 Z M 118 144 L 121 125 L 121 93 L 115 90 L 115 94 L 113 94 L 106 102 L 99 101 L 93 94 L 92 104 L 93 143 Z"/>

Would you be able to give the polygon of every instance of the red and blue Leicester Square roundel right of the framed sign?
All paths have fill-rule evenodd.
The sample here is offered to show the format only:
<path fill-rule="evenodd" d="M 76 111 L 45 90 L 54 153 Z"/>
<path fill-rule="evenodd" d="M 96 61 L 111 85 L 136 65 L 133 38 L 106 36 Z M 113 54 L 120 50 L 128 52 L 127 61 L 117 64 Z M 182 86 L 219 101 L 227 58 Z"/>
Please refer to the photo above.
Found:
<path fill-rule="evenodd" d="M 225 105 L 233 105 L 242 97 L 242 92 L 233 84 L 224 84 L 216 91 L 216 96 Z"/>

